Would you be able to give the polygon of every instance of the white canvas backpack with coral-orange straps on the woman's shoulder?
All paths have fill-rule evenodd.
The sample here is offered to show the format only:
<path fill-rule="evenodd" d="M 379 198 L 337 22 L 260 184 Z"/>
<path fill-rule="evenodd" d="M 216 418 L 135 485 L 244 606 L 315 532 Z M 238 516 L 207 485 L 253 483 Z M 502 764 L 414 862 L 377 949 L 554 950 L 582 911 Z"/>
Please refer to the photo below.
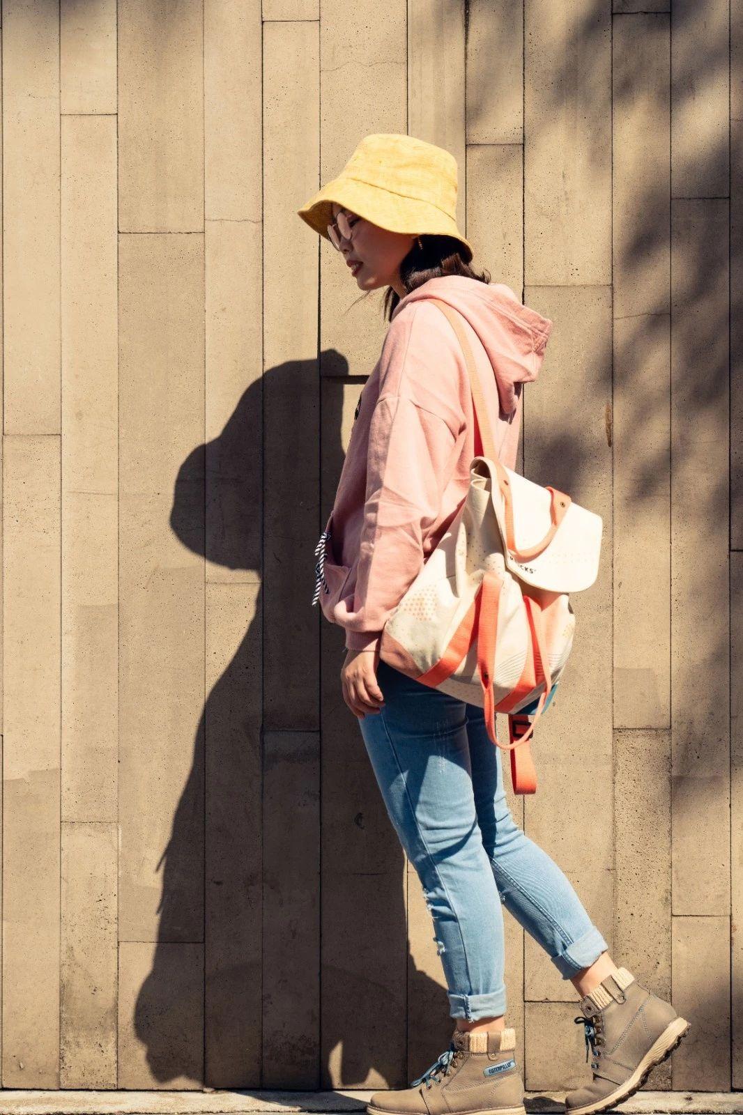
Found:
<path fill-rule="evenodd" d="M 438 545 L 382 632 L 379 657 L 423 685 L 484 709 L 493 744 L 511 754 L 514 793 L 533 794 L 529 739 L 572 648 L 569 592 L 598 573 L 601 517 L 498 459 L 472 350 L 457 313 L 431 299 L 459 338 L 472 386 L 483 455 Z M 533 706 L 530 723 L 524 711 Z M 510 743 L 495 735 L 509 715 Z"/>

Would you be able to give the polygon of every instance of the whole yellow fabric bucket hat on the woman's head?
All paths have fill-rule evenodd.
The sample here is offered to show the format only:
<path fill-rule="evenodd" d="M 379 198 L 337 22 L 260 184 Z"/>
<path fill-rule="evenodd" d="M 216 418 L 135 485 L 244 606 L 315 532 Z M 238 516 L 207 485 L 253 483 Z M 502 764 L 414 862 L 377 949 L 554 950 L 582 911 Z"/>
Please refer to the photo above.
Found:
<path fill-rule="evenodd" d="M 454 236 L 464 261 L 472 259 L 472 245 L 456 226 L 456 159 L 425 139 L 365 136 L 340 174 L 297 214 L 328 240 L 334 202 L 390 232 Z"/>

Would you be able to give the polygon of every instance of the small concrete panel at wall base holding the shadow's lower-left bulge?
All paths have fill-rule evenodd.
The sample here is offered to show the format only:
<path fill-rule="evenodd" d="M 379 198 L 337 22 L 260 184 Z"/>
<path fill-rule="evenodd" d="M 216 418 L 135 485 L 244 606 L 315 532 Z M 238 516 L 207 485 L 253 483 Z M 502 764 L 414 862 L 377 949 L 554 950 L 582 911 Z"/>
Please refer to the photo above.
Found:
<path fill-rule="evenodd" d="M 201 1092 L 203 944 L 122 941 L 118 958 L 118 1087 Z"/>

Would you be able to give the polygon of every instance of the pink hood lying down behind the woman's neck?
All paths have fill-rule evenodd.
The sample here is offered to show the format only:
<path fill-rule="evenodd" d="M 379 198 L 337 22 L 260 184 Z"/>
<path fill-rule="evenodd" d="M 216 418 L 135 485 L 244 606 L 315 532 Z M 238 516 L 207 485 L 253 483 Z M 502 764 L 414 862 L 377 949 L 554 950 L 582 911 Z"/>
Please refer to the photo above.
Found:
<path fill-rule="evenodd" d="M 552 321 L 520 302 L 505 283 L 484 283 L 469 275 L 428 279 L 399 300 L 390 321 L 404 306 L 422 298 L 440 298 L 467 319 L 488 353 L 501 414 L 508 418 L 519 403 L 517 384 L 539 376 Z"/>

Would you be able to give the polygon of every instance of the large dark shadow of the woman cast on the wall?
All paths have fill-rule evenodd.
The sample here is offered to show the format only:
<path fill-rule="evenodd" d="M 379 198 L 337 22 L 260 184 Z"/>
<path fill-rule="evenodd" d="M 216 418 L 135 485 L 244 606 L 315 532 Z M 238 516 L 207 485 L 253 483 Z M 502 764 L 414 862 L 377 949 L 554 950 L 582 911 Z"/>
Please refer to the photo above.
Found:
<path fill-rule="evenodd" d="M 319 382 L 316 360 L 269 369 L 175 478 L 171 527 L 206 559 L 206 700 L 134 1018 L 171 1086 L 406 1087 L 453 1028 L 407 947 L 404 856 L 342 700 L 342 629 L 311 607 L 344 384 L 355 399 L 366 379 L 322 356 Z M 186 942 L 203 969 L 192 953 L 184 972 Z"/>

